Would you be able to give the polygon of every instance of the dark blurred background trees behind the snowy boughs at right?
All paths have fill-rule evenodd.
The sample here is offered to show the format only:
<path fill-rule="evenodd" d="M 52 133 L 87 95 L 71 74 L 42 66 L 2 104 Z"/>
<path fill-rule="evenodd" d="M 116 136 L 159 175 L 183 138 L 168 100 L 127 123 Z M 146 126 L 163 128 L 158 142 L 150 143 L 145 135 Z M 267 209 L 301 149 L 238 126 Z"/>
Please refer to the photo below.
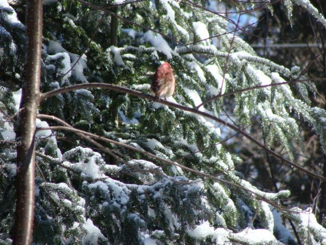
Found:
<path fill-rule="evenodd" d="M 325 5 L 320 1 L 311 1 L 312 5 L 318 9 L 320 13 L 325 12 Z M 302 9 L 300 6 L 293 5 L 292 15 L 284 18 L 284 9 L 286 2 L 278 2 L 271 6 L 273 11 L 267 9 L 260 13 L 256 12 L 258 18 L 257 27 L 252 29 L 252 35 L 247 35 L 245 39 L 254 46 L 256 52 L 269 60 L 285 67 L 299 66 L 306 76 L 313 78 L 317 91 L 317 96 L 310 96 L 311 103 L 314 106 L 325 108 L 325 82 L 322 78 L 326 77 L 325 69 L 325 29 L 322 24 L 311 16 L 309 11 Z M 264 37 L 264 38 L 261 38 Z M 290 58 L 289 58 L 290 57 Z M 321 96 L 320 96 L 321 95 Z M 300 99 L 300 94 L 295 94 Z M 307 127 L 304 122 L 300 123 L 301 134 L 305 139 L 305 156 L 298 156 L 307 167 L 316 169 L 321 173 L 321 167 L 324 166 L 323 150 L 318 143 L 313 128 Z M 262 154 L 261 154 L 262 155 Z M 263 156 L 262 156 L 263 157 Z M 263 174 L 269 166 L 260 164 L 261 169 L 259 176 L 262 179 L 268 178 Z M 255 164 L 254 162 L 252 162 Z M 267 162 L 266 162 L 267 163 Z M 262 167 L 264 166 L 264 167 Z M 279 171 L 280 166 L 274 165 L 274 173 Z M 294 169 L 282 166 L 283 173 L 291 175 L 292 178 L 284 179 L 282 175 L 274 175 L 274 182 L 281 183 L 286 189 L 290 189 L 293 193 L 301 193 L 295 195 L 300 203 L 310 203 L 311 205 L 321 205 L 320 210 L 324 210 L 324 193 L 322 185 L 313 178 L 301 178 L 301 173 Z M 325 171 L 323 170 L 324 174 Z M 291 173 L 291 174 L 289 174 Z M 296 176 L 296 177 L 294 177 Z M 279 178 L 280 177 L 280 178 Z M 269 187 L 268 187 L 269 186 Z M 265 185 L 270 188 L 272 185 Z M 322 222 L 322 212 L 319 215 L 319 223 Z"/>

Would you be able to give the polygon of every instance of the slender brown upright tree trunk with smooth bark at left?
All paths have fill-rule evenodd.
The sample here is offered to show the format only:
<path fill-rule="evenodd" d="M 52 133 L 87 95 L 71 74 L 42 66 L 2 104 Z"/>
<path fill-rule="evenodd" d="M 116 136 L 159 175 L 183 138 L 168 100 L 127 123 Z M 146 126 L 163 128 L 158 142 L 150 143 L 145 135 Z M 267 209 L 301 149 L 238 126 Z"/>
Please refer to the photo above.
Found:
<path fill-rule="evenodd" d="M 35 120 L 40 103 L 42 0 L 28 0 L 26 64 L 21 111 L 15 130 L 17 146 L 17 201 L 13 244 L 31 244 L 35 204 Z"/>

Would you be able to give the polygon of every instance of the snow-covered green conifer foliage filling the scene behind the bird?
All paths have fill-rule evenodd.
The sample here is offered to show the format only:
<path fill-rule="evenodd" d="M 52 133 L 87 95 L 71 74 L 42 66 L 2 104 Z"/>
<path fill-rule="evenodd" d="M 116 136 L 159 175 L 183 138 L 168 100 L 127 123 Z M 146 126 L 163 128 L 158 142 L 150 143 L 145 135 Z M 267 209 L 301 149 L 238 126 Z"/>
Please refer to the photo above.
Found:
<path fill-rule="evenodd" d="M 21 140 L 15 120 L 26 38 L 25 6 L 8 2 L 0 0 L 0 244 L 13 239 Z M 241 14 L 262 5 L 273 9 L 269 1 L 229 4 Z M 289 19 L 293 5 L 326 28 L 309 1 L 284 1 Z M 280 215 L 293 222 L 301 242 L 326 243 L 313 210 L 284 206 L 289 190 L 255 186 L 254 176 L 237 170 L 246 159 L 229 144 L 257 137 L 251 129 L 258 118 L 266 140 L 259 146 L 277 155 L 275 164 L 310 175 L 297 154 L 305 154 L 302 124 L 313 128 L 326 150 L 326 111 L 311 103 L 316 87 L 300 67 L 257 56 L 237 36 L 245 31 L 239 19 L 220 13 L 222 6 L 44 1 L 43 93 L 106 83 L 148 94 L 147 75 L 162 62 L 174 69 L 176 92 L 165 103 L 101 88 L 42 100 L 35 135 L 34 244 L 295 244 Z M 263 140 L 252 143 L 257 142 Z M 313 174 L 322 180 L 321 173 Z"/>

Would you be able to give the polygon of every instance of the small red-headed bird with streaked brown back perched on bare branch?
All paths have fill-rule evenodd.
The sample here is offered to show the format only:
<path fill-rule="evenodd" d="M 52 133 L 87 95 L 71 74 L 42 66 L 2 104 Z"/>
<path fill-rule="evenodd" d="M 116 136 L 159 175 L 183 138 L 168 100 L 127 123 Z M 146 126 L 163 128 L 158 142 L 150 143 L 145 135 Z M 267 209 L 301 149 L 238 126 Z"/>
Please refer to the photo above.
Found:
<path fill-rule="evenodd" d="M 169 63 L 163 63 L 158 66 L 151 84 L 151 94 L 156 97 L 156 100 L 173 95 L 175 90 L 175 77 L 173 69 Z"/>

